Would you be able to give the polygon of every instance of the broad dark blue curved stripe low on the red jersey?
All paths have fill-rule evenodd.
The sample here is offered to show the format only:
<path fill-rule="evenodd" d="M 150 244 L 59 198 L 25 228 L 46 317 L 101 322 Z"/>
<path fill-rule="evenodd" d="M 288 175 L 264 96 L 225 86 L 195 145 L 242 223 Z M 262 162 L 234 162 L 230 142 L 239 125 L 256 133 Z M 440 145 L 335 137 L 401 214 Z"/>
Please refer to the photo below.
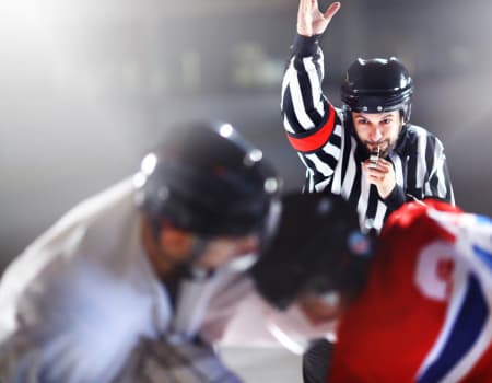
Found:
<path fill-rule="evenodd" d="M 489 316 L 489 307 L 475 276 L 468 278 L 464 303 L 437 359 L 427 367 L 419 383 L 434 383 L 443 379 L 473 346 Z"/>

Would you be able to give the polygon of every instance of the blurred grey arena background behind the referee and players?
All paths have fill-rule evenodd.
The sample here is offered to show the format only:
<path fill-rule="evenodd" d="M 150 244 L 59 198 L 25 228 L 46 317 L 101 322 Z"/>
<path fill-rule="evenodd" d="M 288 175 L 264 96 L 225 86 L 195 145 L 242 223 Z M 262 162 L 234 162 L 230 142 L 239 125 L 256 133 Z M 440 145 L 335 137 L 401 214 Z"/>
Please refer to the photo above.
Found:
<path fill-rule="evenodd" d="M 296 0 L 2 1 L 0 270 L 67 209 L 131 174 L 173 121 L 230 120 L 300 188 L 279 109 L 296 10 Z M 412 121 L 443 140 L 457 204 L 487 214 L 491 22 L 489 0 L 347 0 L 323 39 L 336 105 L 356 57 L 402 59 Z"/>

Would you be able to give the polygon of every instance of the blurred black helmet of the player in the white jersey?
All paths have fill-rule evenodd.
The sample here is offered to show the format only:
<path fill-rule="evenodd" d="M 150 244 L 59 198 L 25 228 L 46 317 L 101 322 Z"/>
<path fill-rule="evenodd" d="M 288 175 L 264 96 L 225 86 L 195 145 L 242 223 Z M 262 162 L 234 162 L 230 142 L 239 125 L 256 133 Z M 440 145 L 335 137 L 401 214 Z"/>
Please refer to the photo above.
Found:
<path fill-rule="evenodd" d="M 211 237 L 265 229 L 280 181 L 232 125 L 197 121 L 169 130 L 142 160 L 134 186 L 154 222 Z"/>

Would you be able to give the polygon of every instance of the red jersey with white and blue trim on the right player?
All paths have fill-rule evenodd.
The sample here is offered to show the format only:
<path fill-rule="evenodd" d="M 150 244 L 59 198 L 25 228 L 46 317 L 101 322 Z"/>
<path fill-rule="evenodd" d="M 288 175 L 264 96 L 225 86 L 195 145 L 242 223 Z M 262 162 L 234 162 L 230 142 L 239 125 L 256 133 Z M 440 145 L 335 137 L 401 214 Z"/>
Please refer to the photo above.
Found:
<path fill-rule="evenodd" d="M 492 221 L 438 201 L 386 222 L 329 382 L 492 382 Z"/>

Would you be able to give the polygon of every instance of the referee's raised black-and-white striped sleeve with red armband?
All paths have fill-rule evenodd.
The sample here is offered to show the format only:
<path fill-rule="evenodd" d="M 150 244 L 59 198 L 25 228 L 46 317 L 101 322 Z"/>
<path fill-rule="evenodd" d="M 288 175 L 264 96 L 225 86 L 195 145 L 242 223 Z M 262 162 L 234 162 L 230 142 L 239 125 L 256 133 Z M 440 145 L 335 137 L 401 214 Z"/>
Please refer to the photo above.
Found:
<path fill-rule="evenodd" d="M 282 82 L 283 126 L 306 167 L 306 192 L 329 184 L 342 151 L 340 119 L 321 90 L 324 56 L 318 37 L 296 36 Z"/>

